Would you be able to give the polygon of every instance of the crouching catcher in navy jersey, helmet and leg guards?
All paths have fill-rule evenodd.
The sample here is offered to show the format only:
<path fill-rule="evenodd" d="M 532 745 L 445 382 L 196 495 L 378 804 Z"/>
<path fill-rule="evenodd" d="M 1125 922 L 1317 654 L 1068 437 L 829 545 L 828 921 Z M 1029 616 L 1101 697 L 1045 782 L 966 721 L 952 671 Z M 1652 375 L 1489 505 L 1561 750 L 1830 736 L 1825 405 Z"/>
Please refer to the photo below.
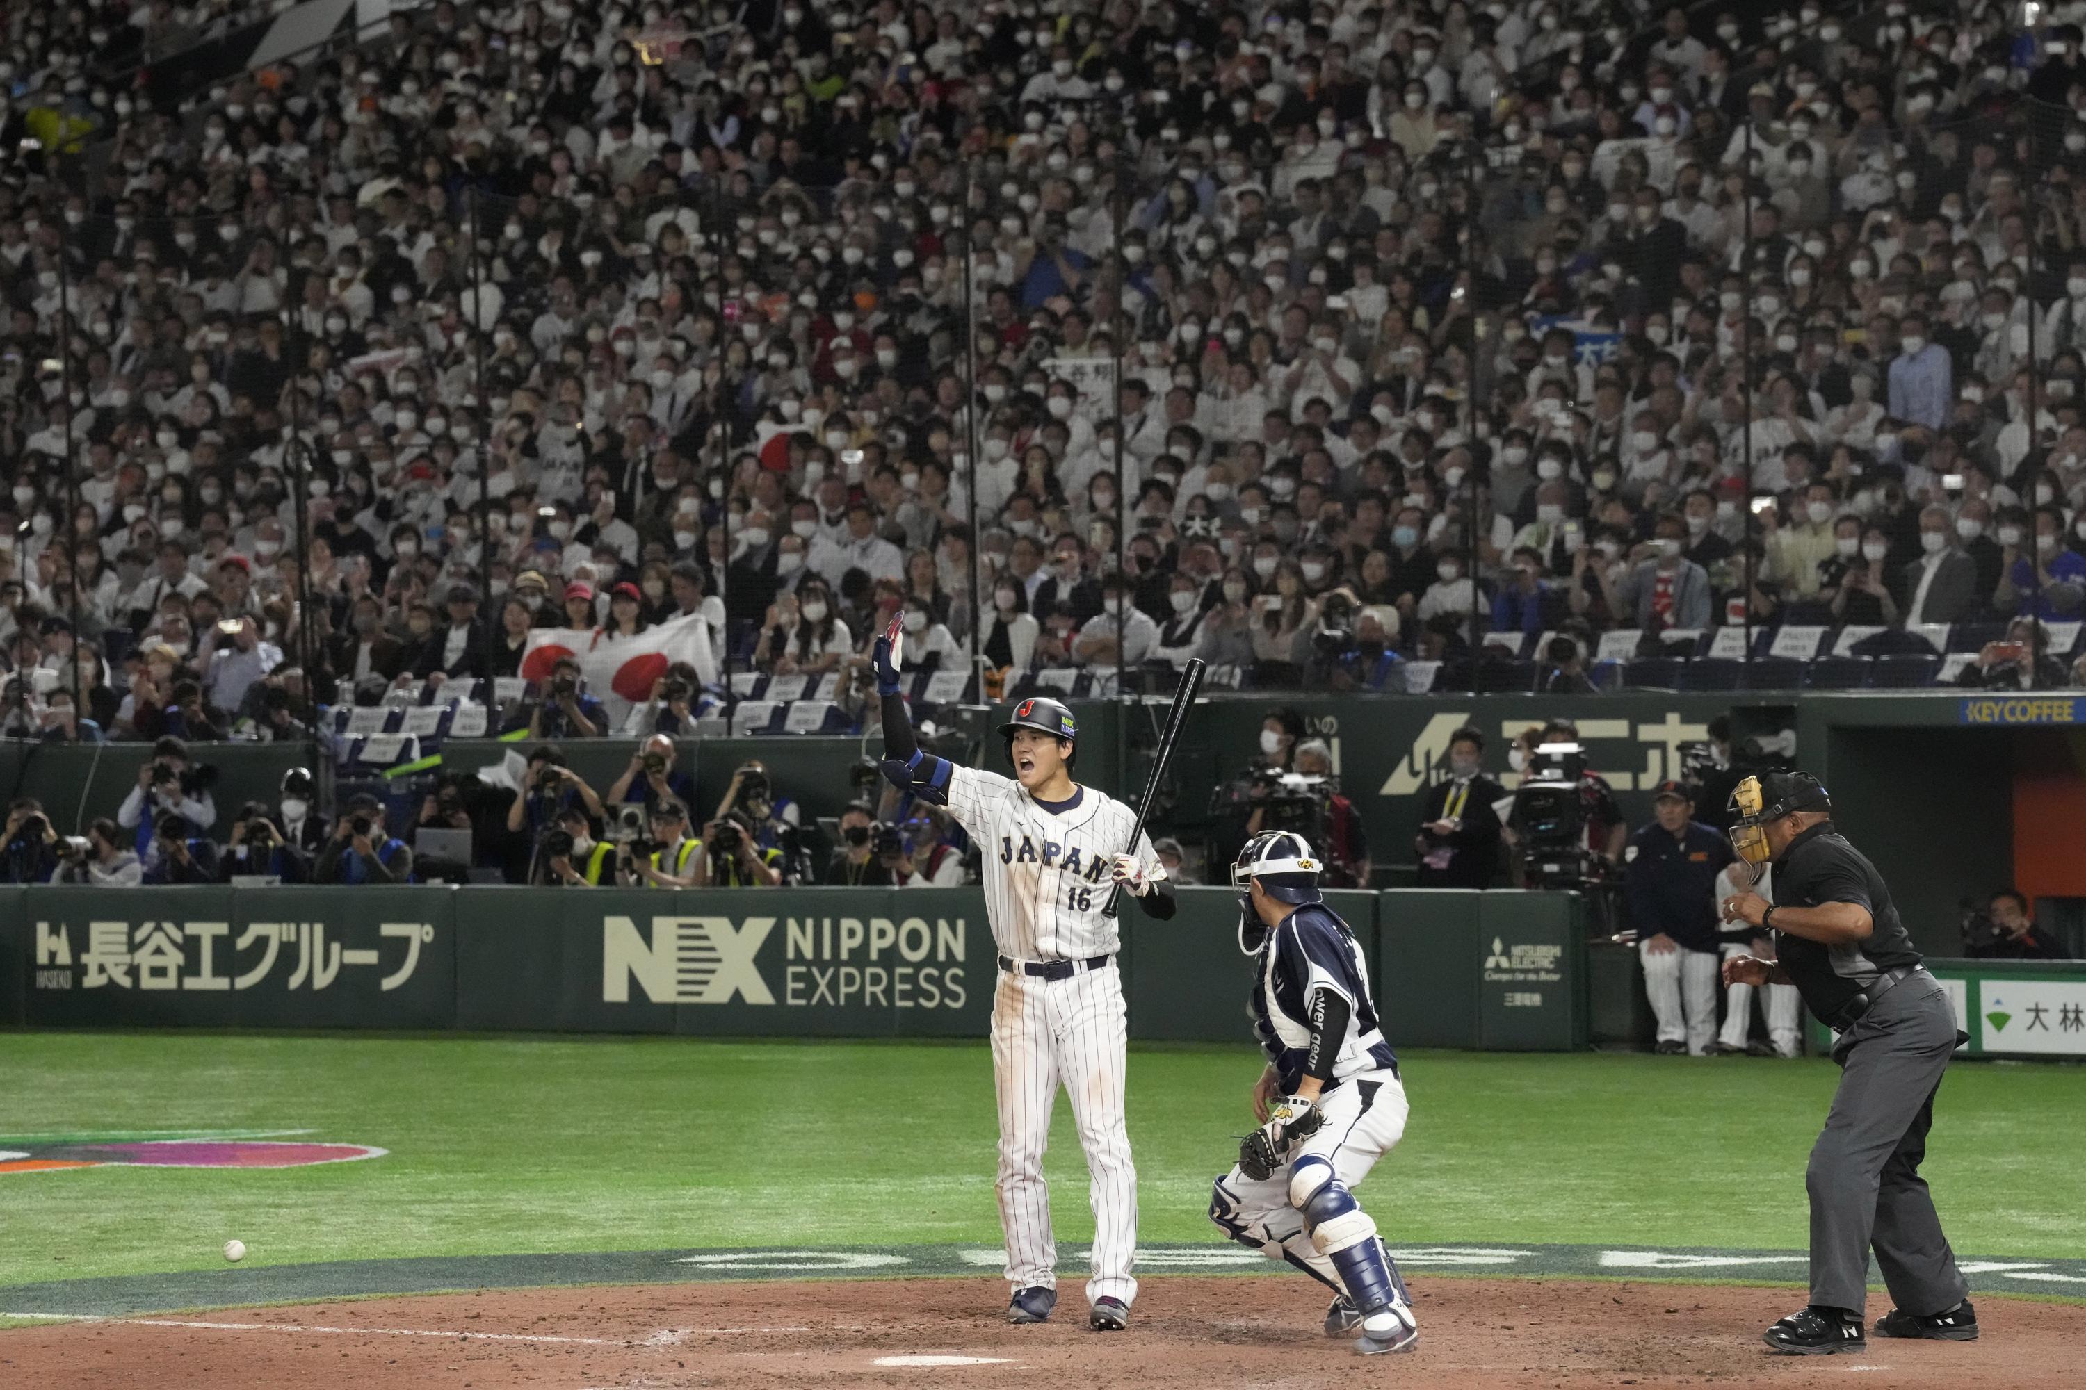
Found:
<path fill-rule="evenodd" d="M 1318 896 L 1318 873 L 1310 844 L 1289 831 L 1254 836 L 1231 867 L 1268 1067 L 1254 1086 L 1262 1123 L 1216 1180 L 1210 1219 L 1331 1288 L 1329 1338 L 1358 1334 L 1364 1357 L 1414 1350 L 1406 1282 L 1352 1194 L 1404 1136 L 1406 1088 L 1377 1027 L 1362 948 Z"/>

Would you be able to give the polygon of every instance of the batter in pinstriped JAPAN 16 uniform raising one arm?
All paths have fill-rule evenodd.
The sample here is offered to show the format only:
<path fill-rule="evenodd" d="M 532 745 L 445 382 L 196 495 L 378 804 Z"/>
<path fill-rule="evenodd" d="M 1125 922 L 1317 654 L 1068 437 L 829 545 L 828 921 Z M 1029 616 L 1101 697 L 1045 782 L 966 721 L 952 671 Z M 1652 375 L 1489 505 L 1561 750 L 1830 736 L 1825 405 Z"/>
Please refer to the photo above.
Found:
<path fill-rule="evenodd" d="M 899 696 L 901 629 L 876 640 L 884 777 L 947 806 L 978 844 L 985 904 L 999 950 L 993 992 L 993 1088 L 999 1096 L 999 1225 L 1014 1296 L 1008 1321 L 1041 1323 L 1058 1307 L 1058 1242 L 1043 1148 L 1058 1088 L 1072 1098 L 1093 1177 L 1093 1277 L 1087 1321 L 1129 1323 L 1137 1280 L 1137 1169 L 1124 1127 L 1124 1004 L 1116 921 L 1101 915 L 1120 884 L 1149 917 L 1172 917 L 1172 886 L 1151 840 L 1124 852 L 1137 815 L 1072 781 L 1078 727 L 1056 700 L 1030 698 L 999 725 L 1014 777 L 955 767 L 914 740 Z"/>

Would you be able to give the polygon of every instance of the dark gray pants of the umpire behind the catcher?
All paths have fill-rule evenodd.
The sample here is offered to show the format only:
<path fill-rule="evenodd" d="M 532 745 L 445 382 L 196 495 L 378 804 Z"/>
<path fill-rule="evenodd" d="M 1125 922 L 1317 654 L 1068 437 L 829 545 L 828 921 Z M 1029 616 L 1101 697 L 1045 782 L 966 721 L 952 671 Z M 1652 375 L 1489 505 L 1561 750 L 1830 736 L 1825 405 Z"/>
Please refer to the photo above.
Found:
<path fill-rule="evenodd" d="M 1811 1302 L 1863 1311 L 1869 1248 L 1892 1302 L 1919 1317 L 1969 1292 L 1919 1175 L 1955 1011 L 1925 975 L 1884 992 L 1834 1046 L 1840 1090 L 1811 1148 Z"/>

